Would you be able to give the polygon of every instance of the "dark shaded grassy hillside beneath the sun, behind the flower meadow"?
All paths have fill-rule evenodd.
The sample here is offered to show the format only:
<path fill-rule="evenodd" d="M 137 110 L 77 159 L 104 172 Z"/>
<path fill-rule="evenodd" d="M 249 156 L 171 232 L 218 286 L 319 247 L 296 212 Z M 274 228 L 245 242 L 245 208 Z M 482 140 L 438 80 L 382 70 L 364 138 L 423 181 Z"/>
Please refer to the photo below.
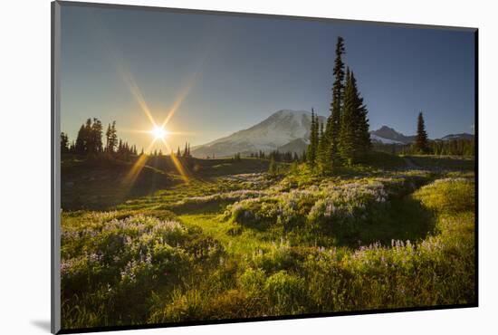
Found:
<path fill-rule="evenodd" d="M 177 167 L 168 156 L 148 157 L 139 162 L 108 158 L 66 158 L 62 160 L 62 209 L 109 209 L 122 202 L 170 189 L 183 183 Z M 268 160 L 178 158 L 189 180 L 244 173 L 263 172 Z"/>

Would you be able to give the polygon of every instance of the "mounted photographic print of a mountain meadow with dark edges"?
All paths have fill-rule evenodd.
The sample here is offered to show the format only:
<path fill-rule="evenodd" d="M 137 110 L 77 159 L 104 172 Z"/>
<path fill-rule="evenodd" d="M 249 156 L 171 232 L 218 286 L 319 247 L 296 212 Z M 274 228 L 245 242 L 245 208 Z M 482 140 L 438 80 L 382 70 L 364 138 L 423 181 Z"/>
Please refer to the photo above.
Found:
<path fill-rule="evenodd" d="M 52 9 L 53 332 L 477 306 L 477 29 Z"/>

